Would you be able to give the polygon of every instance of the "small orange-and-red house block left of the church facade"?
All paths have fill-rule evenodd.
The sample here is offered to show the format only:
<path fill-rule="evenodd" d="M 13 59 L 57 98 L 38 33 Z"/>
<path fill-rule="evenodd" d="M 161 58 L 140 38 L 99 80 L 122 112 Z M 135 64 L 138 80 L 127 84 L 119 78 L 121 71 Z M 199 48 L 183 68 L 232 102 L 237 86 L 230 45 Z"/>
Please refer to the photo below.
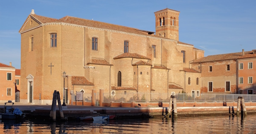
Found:
<path fill-rule="evenodd" d="M 0 103 L 15 101 L 15 93 L 20 90 L 20 69 L 0 63 Z"/>

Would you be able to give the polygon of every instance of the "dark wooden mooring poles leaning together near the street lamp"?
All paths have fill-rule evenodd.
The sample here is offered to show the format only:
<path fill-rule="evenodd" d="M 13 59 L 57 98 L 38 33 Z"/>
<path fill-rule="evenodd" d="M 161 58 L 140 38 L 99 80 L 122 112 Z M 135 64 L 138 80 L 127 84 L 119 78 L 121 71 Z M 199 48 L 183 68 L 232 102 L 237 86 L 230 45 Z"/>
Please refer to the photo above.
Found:
<path fill-rule="evenodd" d="M 51 112 L 50 112 L 50 117 L 52 119 L 52 121 L 56 121 L 56 100 L 58 100 L 58 108 L 60 111 L 60 116 L 61 116 L 61 120 L 65 120 L 64 118 L 64 114 L 62 111 L 62 106 L 61 106 L 61 99 L 60 99 L 60 93 L 59 91 L 54 91 L 53 92 L 53 97 L 52 97 L 52 108 L 51 108 Z"/>

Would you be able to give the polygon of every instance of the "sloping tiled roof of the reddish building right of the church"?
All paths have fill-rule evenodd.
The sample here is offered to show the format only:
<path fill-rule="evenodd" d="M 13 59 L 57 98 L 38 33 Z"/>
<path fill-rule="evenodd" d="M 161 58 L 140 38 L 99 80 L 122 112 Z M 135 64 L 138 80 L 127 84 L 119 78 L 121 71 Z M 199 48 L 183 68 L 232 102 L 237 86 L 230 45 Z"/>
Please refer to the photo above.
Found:
<path fill-rule="evenodd" d="M 256 53 L 253 54 L 253 51 L 244 51 L 244 55 L 242 55 L 242 52 L 209 55 L 207 57 L 201 57 L 197 60 L 194 60 L 193 63 L 204 63 L 204 62 L 221 61 L 221 60 L 235 60 L 235 59 L 243 59 L 243 58 L 251 58 L 251 57 L 256 57 Z"/>

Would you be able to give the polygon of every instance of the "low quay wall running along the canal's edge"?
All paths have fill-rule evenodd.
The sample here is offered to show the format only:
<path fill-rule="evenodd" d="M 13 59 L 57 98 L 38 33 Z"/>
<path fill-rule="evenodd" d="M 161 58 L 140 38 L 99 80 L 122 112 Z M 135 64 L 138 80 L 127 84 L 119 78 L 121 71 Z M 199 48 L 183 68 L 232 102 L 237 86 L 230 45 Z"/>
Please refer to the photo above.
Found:
<path fill-rule="evenodd" d="M 3 110 L 4 104 L 0 103 L 0 109 Z M 34 105 L 15 103 L 13 108 L 19 108 L 28 118 L 45 118 L 49 117 L 51 105 Z M 97 116 L 101 114 L 116 115 L 117 118 L 160 118 L 167 114 L 168 107 L 98 107 L 83 105 L 67 105 L 62 107 L 64 117 L 86 117 Z M 256 114 L 256 106 L 246 106 L 247 114 Z M 235 106 L 190 106 L 177 107 L 178 117 L 191 116 L 214 116 L 236 114 Z M 58 120 L 59 111 L 56 107 L 56 118 Z"/>

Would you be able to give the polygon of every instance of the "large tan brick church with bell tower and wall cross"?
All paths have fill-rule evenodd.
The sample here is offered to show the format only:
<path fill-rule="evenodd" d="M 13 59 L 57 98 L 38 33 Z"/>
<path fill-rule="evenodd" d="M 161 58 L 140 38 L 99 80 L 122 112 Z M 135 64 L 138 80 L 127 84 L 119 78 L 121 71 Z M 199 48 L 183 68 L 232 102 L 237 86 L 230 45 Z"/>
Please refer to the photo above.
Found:
<path fill-rule="evenodd" d="M 93 89 L 137 97 L 164 93 L 166 99 L 172 92 L 200 93 L 200 72 L 189 68 L 189 62 L 204 57 L 204 51 L 179 41 L 179 13 L 155 12 L 154 35 L 77 17 L 43 17 L 32 10 L 19 31 L 20 102 L 51 103 L 54 90 L 63 98 L 64 71 L 67 104 L 72 93 Z"/>

